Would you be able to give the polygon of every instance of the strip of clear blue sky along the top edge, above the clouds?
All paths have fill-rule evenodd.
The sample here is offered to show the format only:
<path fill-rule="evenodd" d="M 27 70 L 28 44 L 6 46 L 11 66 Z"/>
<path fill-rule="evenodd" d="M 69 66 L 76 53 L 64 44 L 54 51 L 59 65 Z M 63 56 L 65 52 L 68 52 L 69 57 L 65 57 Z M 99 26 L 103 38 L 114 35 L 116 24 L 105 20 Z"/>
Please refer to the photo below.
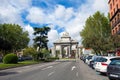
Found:
<path fill-rule="evenodd" d="M 32 5 L 42 8 L 49 8 L 49 7 L 52 8 L 53 5 L 60 4 L 65 6 L 66 8 L 68 7 L 78 8 L 79 5 L 81 5 L 85 1 L 86 0 L 76 0 L 76 1 L 75 0 L 32 0 Z"/>

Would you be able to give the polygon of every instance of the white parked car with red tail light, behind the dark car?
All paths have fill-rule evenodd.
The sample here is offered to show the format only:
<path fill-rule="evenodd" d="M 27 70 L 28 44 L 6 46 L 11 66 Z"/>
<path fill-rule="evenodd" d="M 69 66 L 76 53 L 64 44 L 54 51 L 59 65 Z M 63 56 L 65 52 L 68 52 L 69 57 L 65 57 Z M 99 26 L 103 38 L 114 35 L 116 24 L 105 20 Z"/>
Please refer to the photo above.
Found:
<path fill-rule="evenodd" d="M 94 68 L 96 71 L 100 73 L 107 72 L 107 66 L 110 64 L 111 60 L 115 57 L 101 57 L 99 61 L 94 64 Z"/>

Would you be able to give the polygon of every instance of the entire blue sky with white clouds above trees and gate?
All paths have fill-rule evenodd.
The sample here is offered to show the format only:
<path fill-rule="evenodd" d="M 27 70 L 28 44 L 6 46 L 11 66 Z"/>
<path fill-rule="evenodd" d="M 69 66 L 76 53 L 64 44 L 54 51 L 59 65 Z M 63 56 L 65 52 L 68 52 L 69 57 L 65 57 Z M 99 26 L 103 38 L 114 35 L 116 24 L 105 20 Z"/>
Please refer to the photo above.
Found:
<path fill-rule="evenodd" d="M 68 32 L 81 42 L 79 32 L 86 19 L 100 11 L 108 13 L 108 0 L 0 0 L 0 23 L 15 23 L 29 32 L 33 41 L 33 28 L 49 26 L 49 47 Z"/>

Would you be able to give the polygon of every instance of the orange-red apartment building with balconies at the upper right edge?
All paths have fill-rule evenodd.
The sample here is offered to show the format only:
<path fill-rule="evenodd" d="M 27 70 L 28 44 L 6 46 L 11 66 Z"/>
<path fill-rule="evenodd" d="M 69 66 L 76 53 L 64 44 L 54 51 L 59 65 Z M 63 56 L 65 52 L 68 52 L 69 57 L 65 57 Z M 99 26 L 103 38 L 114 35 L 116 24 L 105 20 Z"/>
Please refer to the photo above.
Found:
<path fill-rule="evenodd" d="M 112 35 L 120 34 L 120 0 L 109 0 L 109 13 Z"/>

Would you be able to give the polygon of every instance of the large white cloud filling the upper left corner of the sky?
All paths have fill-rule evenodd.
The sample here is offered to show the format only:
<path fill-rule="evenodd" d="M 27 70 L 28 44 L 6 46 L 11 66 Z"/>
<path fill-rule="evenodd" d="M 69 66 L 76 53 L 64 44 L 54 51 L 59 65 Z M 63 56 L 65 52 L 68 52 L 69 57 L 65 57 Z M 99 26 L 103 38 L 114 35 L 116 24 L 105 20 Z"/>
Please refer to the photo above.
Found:
<path fill-rule="evenodd" d="M 0 0 L 0 23 L 23 25 L 21 13 L 31 6 L 31 0 Z"/>

